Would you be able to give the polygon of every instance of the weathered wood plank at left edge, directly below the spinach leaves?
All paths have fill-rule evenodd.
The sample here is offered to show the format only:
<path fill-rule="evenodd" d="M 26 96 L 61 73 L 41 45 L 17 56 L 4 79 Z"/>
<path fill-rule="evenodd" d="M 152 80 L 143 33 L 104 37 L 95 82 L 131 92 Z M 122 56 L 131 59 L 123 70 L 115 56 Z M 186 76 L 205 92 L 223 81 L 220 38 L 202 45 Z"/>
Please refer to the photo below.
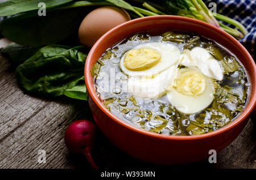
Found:
<path fill-rule="evenodd" d="M 22 126 L 26 119 L 35 115 L 48 102 L 38 98 L 24 95 L 16 83 L 14 70 L 10 70 L 10 63 L 6 58 L 0 62 L 7 65 L 1 66 L 0 72 L 0 142 L 9 132 Z M 18 91 L 19 90 L 19 91 Z"/>

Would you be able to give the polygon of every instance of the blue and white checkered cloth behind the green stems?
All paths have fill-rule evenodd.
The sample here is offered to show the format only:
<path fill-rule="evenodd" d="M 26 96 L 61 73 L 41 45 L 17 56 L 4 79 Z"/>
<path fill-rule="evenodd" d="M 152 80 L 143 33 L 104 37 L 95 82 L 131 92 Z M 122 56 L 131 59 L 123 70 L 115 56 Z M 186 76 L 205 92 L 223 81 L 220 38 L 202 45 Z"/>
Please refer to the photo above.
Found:
<path fill-rule="evenodd" d="M 256 39 L 256 0 L 205 0 L 204 2 L 206 5 L 209 5 L 210 2 L 216 3 L 218 13 L 229 16 L 229 18 L 237 20 L 246 27 L 249 33 L 240 42 L 253 57 L 256 57 L 254 50 Z M 0 21 L 3 18 L 0 18 Z"/>

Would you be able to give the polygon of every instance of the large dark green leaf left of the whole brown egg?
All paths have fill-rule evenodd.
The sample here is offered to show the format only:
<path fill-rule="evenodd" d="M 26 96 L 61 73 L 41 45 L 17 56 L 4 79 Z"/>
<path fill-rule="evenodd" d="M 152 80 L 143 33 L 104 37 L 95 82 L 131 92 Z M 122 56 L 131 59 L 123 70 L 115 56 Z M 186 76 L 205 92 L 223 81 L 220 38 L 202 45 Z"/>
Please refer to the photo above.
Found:
<path fill-rule="evenodd" d="M 0 33 L 20 45 L 42 46 L 56 44 L 72 34 L 87 14 L 82 8 L 49 11 L 38 16 L 31 11 L 7 18 L 0 23 Z"/>

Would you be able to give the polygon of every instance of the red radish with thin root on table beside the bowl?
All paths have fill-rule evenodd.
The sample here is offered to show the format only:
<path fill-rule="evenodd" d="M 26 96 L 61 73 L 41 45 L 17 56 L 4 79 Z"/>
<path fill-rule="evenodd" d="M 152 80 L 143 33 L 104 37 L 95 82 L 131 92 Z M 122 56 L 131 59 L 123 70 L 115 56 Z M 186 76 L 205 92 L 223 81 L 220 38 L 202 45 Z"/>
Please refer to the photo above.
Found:
<path fill-rule="evenodd" d="M 69 151 L 84 154 L 94 169 L 98 166 L 93 161 L 91 147 L 95 141 L 96 125 L 88 120 L 78 120 L 68 126 L 65 132 L 65 144 Z"/>

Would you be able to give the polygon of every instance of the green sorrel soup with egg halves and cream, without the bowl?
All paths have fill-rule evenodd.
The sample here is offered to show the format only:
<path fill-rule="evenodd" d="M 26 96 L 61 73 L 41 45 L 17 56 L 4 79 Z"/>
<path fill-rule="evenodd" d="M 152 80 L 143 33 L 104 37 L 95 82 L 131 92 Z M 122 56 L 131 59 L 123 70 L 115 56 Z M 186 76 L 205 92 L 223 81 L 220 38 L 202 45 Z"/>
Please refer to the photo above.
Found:
<path fill-rule="evenodd" d="M 195 33 L 141 32 L 94 64 L 95 91 L 118 118 L 164 135 L 200 135 L 245 109 L 250 82 L 242 63 Z"/>

